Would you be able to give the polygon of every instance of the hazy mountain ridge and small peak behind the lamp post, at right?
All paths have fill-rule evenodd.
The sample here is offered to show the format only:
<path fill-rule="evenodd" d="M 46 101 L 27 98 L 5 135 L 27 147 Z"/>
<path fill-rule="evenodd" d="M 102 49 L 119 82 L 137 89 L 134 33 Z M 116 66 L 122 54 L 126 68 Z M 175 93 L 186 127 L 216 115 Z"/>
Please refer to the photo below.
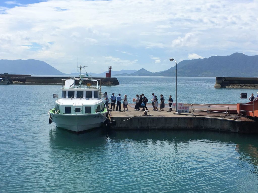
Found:
<path fill-rule="evenodd" d="M 235 53 L 230 56 L 211 56 L 203 59 L 183 60 L 177 66 L 178 76 L 257 77 L 258 55 L 247 56 Z M 127 76 L 175 76 L 175 71 L 175 66 L 155 73 L 142 68 Z"/>

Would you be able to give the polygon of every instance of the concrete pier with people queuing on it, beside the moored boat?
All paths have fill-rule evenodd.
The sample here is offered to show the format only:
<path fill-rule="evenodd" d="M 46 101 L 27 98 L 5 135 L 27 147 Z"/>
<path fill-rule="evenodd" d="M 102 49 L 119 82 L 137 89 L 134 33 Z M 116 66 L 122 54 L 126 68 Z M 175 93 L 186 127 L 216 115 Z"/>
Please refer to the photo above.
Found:
<path fill-rule="evenodd" d="M 128 104 L 129 111 L 109 111 L 112 129 L 204 129 L 235 133 L 258 133 L 257 122 L 248 117 L 237 117 L 236 114 L 225 116 L 225 113 L 207 113 L 204 111 L 192 111 L 190 113 L 175 114 L 173 111 L 152 111 L 152 105 L 147 108 L 150 116 L 141 116 L 143 111 L 134 111 L 135 104 Z M 191 104 L 190 104 L 191 105 Z M 236 104 L 230 104 L 231 112 L 236 112 Z M 197 108 L 197 107 L 196 107 Z M 201 110 L 202 107 L 198 107 Z M 123 109 L 123 108 L 122 108 Z M 223 111 L 220 107 L 212 110 Z M 112 121 L 113 120 L 113 121 Z"/>

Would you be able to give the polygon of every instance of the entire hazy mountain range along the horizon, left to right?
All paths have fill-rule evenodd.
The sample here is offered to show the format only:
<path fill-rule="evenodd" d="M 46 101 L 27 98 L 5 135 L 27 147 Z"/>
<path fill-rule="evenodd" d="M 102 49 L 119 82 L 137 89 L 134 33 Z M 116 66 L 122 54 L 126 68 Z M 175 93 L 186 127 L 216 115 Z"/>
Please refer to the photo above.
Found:
<path fill-rule="evenodd" d="M 171 65 L 175 65 L 174 61 Z M 257 77 L 258 55 L 247 56 L 234 53 L 230 56 L 211 56 L 203 59 L 183 60 L 177 64 L 178 76 L 224 76 Z M 15 71 L 15 72 L 14 72 Z M 175 76 L 176 67 L 165 71 L 150 72 L 142 68 L 136 70 L 112 71 L 111 76 Z M 78 75 L 65 74 L 40 60 L 0 60 L 0 73 L 35 74 L 35 75 Z M 105 76 L 104 73 L 88 73 L 93 76 Z"/>

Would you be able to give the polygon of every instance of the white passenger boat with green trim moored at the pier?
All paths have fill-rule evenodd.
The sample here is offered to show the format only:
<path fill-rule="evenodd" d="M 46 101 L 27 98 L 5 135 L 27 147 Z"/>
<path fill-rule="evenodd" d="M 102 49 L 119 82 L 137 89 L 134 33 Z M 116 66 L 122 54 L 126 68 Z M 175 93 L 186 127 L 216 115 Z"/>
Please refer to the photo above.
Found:
<path fill-rule="evenodd" d="M 80 66 L 80 70 L 83 66 Z M 62 97 L 49 110 L 49 123 L 71 131 L 84 131 L 100 127 L 106 121 L 107 109 L 102 102 L 101 85 L 90 77 L 65 80 Z"/>

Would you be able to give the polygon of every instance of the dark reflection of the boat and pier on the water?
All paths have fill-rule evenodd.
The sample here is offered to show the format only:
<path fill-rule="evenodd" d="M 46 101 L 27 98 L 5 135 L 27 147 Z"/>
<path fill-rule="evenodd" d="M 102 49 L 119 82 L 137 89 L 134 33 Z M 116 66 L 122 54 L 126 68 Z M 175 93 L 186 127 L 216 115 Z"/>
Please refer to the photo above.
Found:
<path fill-rule="evenodd" d="M 214 153 L 228 151 L 234 156 L 235 150 L 237 153 L 235 157 L 238 157 L 239 161 L 254 165 L 253 172 L 258 171 L 258 142 L 255 135 L 194 130 L 109 130 L 107 128 L 75 134 L 56 128 L 49 131 L 49 138 L 50 147 L 57 154 L 76 156 L 96 153 L 101 159 L 108 159 L 106 154 L 117 156 L 116 152 L 119 151 L 139 151 L 144 155 L 146 150 L 147 153 L 153 151 L 160 156 L 169 152 L 176 160 L 177 157 L 181 157 L 180 160 L 183 161 L 182 154 L 186 154 L 187 151 L 189 153 L 194 151 L 195 156 L 199 156 L 198 151 L 199 154 L 207 155 L 211 151 Z"/>

